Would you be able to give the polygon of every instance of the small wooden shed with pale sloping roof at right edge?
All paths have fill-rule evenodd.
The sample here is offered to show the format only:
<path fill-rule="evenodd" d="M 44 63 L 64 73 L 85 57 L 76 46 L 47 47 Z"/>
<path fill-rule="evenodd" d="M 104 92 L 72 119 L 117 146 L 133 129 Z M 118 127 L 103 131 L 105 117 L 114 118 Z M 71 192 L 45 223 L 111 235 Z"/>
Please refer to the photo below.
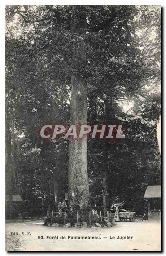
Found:
<path fill-rule="evenodd" d="M 161 186 L 148 186 L 144 198 L 147 199 L 148 220 L 161 220 Z"/>

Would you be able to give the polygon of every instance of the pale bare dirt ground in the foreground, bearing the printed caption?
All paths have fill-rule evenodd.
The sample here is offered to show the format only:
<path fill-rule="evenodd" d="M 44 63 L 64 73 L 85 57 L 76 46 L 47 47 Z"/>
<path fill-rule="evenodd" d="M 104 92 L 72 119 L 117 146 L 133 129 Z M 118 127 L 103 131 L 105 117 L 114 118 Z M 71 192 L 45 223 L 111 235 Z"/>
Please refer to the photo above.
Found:
<path fill-rule="evenodd" d="M 54 228 L 43 223 L 7 222 L 6 251 L 161 251 L 160 221 L 117 222 L 112 228 Z M 87 239 L 78 239 L 81 236 Z M 99 239 L 92 239 L 95 236 Z"/>

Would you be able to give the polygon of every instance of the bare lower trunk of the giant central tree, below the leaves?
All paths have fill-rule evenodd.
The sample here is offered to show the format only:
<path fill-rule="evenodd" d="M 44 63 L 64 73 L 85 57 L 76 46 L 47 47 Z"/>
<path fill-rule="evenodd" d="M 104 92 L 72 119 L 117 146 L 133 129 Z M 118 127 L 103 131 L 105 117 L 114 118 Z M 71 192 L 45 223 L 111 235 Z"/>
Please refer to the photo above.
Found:
<path fill-rule="evenodd" d="M 80 92 L 80 93 L 78 93 Z M 72 78 L 71 124 L 79 134 L 81 124 L 87 122 L 87 88 L 82 79 Z M 69 207 L 72 210 L 90 207 L 87 173 L 87 137 L 69 141 Z"/>

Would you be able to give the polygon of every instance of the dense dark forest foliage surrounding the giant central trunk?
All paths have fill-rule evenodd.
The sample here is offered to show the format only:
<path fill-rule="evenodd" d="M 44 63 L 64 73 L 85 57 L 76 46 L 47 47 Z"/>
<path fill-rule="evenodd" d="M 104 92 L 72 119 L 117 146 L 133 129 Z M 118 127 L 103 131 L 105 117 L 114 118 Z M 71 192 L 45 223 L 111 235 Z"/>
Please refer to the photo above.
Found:
<path fill-rule="evenodd" d="M 45 123 L 70 122 L 71 74 L 88 87 L 88 122 L 124 124 L 126 139 L 88 139 L 92 207 L 143 211 L 147 185 L 160 185 L 156 125 L 160 115 L 160 9 L 156 6 L 79 6 L 86 18 L 71 33 L 71 7 L 6 6 L 6 193 L 45 215 L 68 192 L 68 141 L 41 140 Z M 86 45 L 87 63 L 72 62 Z M 54 186 L 56 182 L 56 186 Z"/>

